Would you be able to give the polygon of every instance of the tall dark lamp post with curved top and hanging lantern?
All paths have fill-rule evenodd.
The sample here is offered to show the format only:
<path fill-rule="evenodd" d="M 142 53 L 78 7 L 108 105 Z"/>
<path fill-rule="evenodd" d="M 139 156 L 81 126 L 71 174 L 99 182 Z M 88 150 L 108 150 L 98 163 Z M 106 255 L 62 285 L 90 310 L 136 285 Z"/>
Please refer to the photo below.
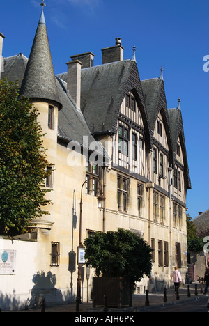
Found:
<path fill-rule="evenodd" d="M 82 184 L 81 189 L 81 199 L 80 199 L 80 219 L 79 219 L 79 245 L 77 247 L 77 295 L 76 295 L 76 312 L 80 310 L 80 303 L 82 300 L 81 289 L 82 289 L 82 266 L 85 264 L 84 261 L 84 254 L 85 254 L 85 247 L 82 243 L 82 206 L 83 206 L 83 187 L 88 180 L 93 179 L 93 177 L 88 178 Z M 99 181 L 99 180 L 98 180 Z M 100 181 L 99 181 L 100 182 Z M 102 189 L 102 188 L 101 188 Z M 102 208 L 103 196 L 102 191 L 100 191 L 100 196 L 98 196 L 98 208 Z"/>

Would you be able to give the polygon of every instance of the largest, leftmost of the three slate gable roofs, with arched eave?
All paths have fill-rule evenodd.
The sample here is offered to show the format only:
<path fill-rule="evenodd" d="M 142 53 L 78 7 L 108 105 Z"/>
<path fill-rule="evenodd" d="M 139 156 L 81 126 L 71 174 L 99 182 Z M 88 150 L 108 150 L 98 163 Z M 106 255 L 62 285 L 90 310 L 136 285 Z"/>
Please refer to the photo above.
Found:
<path fill-rule="evenodd" d="M 67 80 L 67 73 L 58 75 Z M 150 147 L 150 128 L 137 63 L 116 61 L 82 69 L 81 109 L 92 134 L 116 134 L 118 112 L 125 95 L 133 91 Z"/>

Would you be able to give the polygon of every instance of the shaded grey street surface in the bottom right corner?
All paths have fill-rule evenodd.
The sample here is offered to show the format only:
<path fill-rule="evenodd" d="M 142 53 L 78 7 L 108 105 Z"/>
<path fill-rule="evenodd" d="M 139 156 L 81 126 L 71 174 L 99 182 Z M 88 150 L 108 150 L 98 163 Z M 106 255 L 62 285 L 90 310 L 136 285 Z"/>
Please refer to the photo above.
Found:
<path fill-rule="evenodd" d="M 209 312 L 207 304 L 208 297 L 201 297 L 199 300 L 178 302 L 176 304 L 150 309 L 148 312 Z"/>

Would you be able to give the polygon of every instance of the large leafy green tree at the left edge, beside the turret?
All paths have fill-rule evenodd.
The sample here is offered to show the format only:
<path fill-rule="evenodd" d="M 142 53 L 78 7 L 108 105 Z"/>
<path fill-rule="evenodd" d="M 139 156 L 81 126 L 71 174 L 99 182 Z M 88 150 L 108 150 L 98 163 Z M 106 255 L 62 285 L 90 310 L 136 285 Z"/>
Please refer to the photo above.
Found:
<path fill-rule="evenodd" d="M 0 234 L 24 233 L 31 219 L 48 212 L 42 207 L 52 171 L 42 146 L 38 111 L 19 98 L 18 84 L 0 81 Z"/>

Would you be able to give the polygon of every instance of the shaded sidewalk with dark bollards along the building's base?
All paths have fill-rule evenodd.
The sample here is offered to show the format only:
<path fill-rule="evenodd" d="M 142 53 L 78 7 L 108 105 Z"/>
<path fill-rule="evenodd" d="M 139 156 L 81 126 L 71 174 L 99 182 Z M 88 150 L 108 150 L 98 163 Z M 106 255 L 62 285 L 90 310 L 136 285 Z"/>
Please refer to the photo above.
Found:
<path fill-rule="evenodd" d="M 156 309 L 159 306 L 166 306 L 169 304 L 179 304 L 180 302 L 185 302 L 185 300 L 199 300 L 201 297 L 206 297 L 206 295 L 203 295 L 201 293 L 201 285 L 197 283 L 197 291 L 198 295 L 195 295 L 195 283 L 189 284 L 190 287 L 190 294 L 191 297 L 187 296 L 187 284 L 181 285 L 179 289 L 179 296 L 180 299 L 176 300 L 176 295 L 174 294 L 174 289 L 170 288 L 167 289 L 167 302 L 164 302 L 164 292 L 160 291 L 157 293 L 148 293 L 148 300 L 149 300 L 149 306 L 146 306 L 146 294 L 141 295 L 133 295 L 132 299 L 132 307 L 123 307 L 121 309 L 119 308 L 109 308 L 109 312 L 117 311 L 117 312 L 140 312 L 140 311 L 150 311 L 151 309 Z M 203 290 L 205 286 L 203 284 Z M 103 306 L 98 306 L 96 308 L 93 308 L 92 302 L 82 303 L 80 304 L 80 313 L 93 313 L 93 312 L 102 312 L 104 309 Z M 20 311 L 20 312 L 40 312 L 40 309 L 31 309 L 28 311 Z M 66 304 L 66 305 L 60 305 L 60 306 L 46 306 L 45 312 L 76 312 L 76 304 Z"/>

